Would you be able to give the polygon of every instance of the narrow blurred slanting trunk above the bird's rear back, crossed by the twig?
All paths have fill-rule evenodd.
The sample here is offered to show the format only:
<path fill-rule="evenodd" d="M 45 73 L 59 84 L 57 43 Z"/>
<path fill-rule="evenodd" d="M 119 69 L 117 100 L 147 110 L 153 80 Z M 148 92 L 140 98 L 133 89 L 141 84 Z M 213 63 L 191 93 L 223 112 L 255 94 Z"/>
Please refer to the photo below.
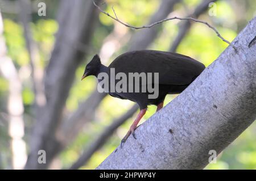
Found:
<path fill-rule="evenodd" d="M 216 2 L 216 1 L 217 0 L 203 0 L 196 7 L 195 11 L 191 15 L 188 15 L 187 17 L 198 18 L 203 12 L 205 12 L 208 9 L 210 2 Z M 173 43 L 169 49 L 169 52 L 176 52 L 178 45 L 180 44 L 181 40 L 183 40 L 184 36 L 189 31 L 190 27 L 191 27 L 190 21 L 185 21 L 182 24 L 180 24 L 178 35 L 176 36 L 175 40 L 173 41 Z"/>

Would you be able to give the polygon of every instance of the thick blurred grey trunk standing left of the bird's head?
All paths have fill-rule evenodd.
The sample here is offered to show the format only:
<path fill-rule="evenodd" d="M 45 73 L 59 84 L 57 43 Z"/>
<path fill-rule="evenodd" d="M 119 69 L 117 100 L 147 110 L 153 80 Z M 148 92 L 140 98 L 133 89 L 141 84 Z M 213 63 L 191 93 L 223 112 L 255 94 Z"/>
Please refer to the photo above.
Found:
<path fill-rule="evenodd" d="M 75 70 L 86 52 L 86 49 L 81 51 L 76 47 L 77 44 L 89 44 L 97 14 L 91 1 L 61 1 L 59 31 L 44 79 L 47 103 L 36 115 L 37 122 L 31 137 L 26 169 L 46 169 L 61 147 L 56 129 L 62 118 Z M 46 164 L 38 163 L 38 150 L 46 151 Z"/>

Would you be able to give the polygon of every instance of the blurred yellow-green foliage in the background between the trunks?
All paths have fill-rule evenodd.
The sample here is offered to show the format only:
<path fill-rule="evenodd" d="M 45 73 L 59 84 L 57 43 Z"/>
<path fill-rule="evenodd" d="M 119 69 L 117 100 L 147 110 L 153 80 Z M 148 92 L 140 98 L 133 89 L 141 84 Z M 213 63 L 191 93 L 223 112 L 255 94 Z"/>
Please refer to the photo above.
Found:
<path fill-rule="evenodd" d="M 185 0 L 184 3 L 187 7 L 195 7 L 200 1 Z M 133 24 L 134 26 L 142 26 L 145 22 L 148 22 L 150 16 L 157 10 L 159 6 L 158 0 L 139 0 L 139 1 L 121 1 L 121 0 L 108 0 L 108 5 L 102 5 L 106 7 L 106 11 L 113 14 L 112 5 L 119 19 L 123 22 Z M 246 19 L 252 18 L 254 1 L 250 1 L 251 5 L 246 13 Z M 237 28 L 240 25 L 237 22 L 237 14 L 233 8 L 233 5 L 228 1 L 220 1 L 217 5 L 217 16 L 209 16 L 204 14 L 200 16 L 221 33 L 225 39 L 232 41 L 237 35 Z M 246 3 L 246 6 L 248 4 Z M 254 6 L 255 7 L 255 6 Z M 175 12 L 180 13 L 180 16 L 186 16 L 184 7 L 179 5 L 175 7 Z M 92 39 L 92 50 L 85 58 L 90 60 L 93 54 L 98 53 L 104 41 L 105 37 L 112 32 L 114 28 L 112 19 L 104 14 L 100 14 L 100 25 L 94 32 Z M 168 50 L 172 40 L 175 39 L 178 28 L 178 21 L 163 23 L 162 28 L 159 28 L 159 35 L 155 41 L 150 45 L 150 49 Z M 4 19 L 5 26 L 5 39 L 8 47 L 8 54 L 15 62 L 16 68 L 20 71 L 22 68 L 29 66 L 28 52 L 26 50 L 25 40 L 23 36 L 23 28 L 15 19 Z M 32 37 L 36 41 L 39 49 L 40 66 L 45 68 L 49 56 L 51 54 L 52 47 L 55 41 L 55 33 L 58 30 L 58 24 L 54 19 L 36 19 L 30 23 L 32 30 Z M 199 31 L 200 30 L 200 31 Z M 134 33 L 134 30 L 129 30 L 129 33 Z M 210 30 L 204 24 L 194 23 L 191 31 L 188 32 L 184 40 L 177 48 L 178 53 L 187 54 L 197 60 L 203 62 L 206 66 L 210 65 L 218 55 L 226 48 L 228 44 L 219 39 L 214 31 Z M 127 45 L 124 45 L 115 52 L 114 56 L 123 53 L 127 50 Z M 110 61 L 113 60 L 114 56 Z M 80 81 L 81 75 L 84 71 L 85 64 L 81 65 L 76 71 L 76 79 L 74 85 L 70 91 L 69 98 L 66 103 L 68 112 L 76 110 L 79 103 L 86 99 L 90 93 L 96 87 L 96 79 L 93 77 L 86 78 L 85 81 Z M 30 74 L 30 73 L 28 73 Z M 29 112 L 34 102 L 34 93 L 30 82 L 30 76 L 24 77 L 23 81 L 23 103 L 25 105 L 25 112 Z M 0 77 L 0 100 L 1 100 L 1 112 L 0 112 L 0 146 L 1 146 L 1 158 L 2 162 L 6 165 L 8 158 L 10 157 L 9 136 L 7 130 L 7 124 L 5 122 L 5 103 L 6 95 L 8 94 L 8 82 Z M 175 98 L 176 95 L 168 95 L 165 104 Z M 69 167 L 73 162 L 79 158 L 82 151 L 88 149 L 90 144 L 97 138 L 97 136 L 112 123 L 115 117 L 125 113 L 133 103 L 128 100 L 120 100 L 107 96 L 100 107 L 97 108 L 96 116 L 93 121 L 87 123 L 82 132 L 76 138 L 76 140 L 69 145 L 60 156 L 61 166 L 64 168 Z M 3 110 L 3 111 L 2 111 Z M 155 112 L 155 107 L 150 106 L 143 120 L 148 119 Z M 103 148 L 96 151 L 88 163 L 81 169 L 94 169 L 97 167 L 112 151 L 119 145 L 121 138 L 125 135 L 127 129 L 134 117 L 127 120 L 120 128 L 117 129 L 113 136 L 106 142 Z M 26 120 L 25 120 L 26 121 Z M 143 121 L 142 121 L 143 122 Z M 30 129 L 30 125 L 27 125 Z M 218 156 L 217 163 L 212 163 L 207 166 L 206 169 L 256 169 L 256 123 L 251 125 L 240 137 L 237 138 L 227 149 Z M 4 149 L 3 149 L 4 148 Z M 1 164 L 0 164 L 1 167 Z"/>

